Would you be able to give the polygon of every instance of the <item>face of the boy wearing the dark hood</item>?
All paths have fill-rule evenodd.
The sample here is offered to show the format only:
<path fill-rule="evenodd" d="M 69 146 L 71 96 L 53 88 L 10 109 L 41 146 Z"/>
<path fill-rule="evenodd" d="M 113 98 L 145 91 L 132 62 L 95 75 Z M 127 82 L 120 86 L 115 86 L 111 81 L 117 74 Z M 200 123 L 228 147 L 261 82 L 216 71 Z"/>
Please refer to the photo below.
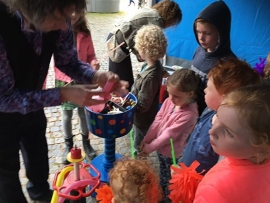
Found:
<path fill-rule="evenodd" d="M 216 46 L 218 45 L 218 31 L 201 22 L 196 23 L 196 31 L 200 45 L 208 52 L 215 51 Z"/>

